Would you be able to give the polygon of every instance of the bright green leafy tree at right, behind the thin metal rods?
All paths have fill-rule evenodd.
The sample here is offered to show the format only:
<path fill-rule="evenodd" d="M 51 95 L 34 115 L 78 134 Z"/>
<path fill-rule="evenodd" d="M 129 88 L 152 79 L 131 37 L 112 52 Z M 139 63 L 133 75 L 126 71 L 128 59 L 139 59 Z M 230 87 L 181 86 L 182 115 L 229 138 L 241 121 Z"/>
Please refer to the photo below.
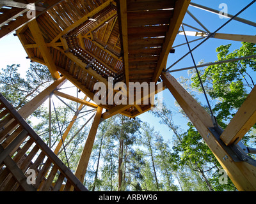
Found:
<path fill-rule="evenodd" d="M 254 43 L 242 43 L 242 47 L 234 52 L 230 52 L 230 47 L 231 44 L 216 48 L 218 61 L 256 54 Z M 216 113 L 216 118 L 223 128 L 227 126 L 255 86 L 255 71 L 255 59 L 216 64 L 200 71 L 205 91 L 216 101 L 212 110 Z M 202 92 L 199 79 L 193 72 L 191 81 L 194 90 Z"/>

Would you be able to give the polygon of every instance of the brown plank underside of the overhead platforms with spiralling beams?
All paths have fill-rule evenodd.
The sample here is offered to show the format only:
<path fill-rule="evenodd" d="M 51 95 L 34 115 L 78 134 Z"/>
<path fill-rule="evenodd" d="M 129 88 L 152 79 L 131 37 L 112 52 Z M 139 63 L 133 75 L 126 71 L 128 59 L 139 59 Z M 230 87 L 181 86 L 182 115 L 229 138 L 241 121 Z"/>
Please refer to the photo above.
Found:
<path fill-rule="evenodd" d="M 17 30 L 31 61 L 45 64 L 54 78 L 65 76 L 90 99 L 97 92 L 93 85 L 103 82 L 108 86 L 108 77 L 113 77 L 115 83 L 157 84 L 190 3 L 189 0 L 10 2 L 0 6 L 0 38 Z M 32 4 L 36 5 L 36 20 L 26 17 Z M 108 110 L 102 116 L 108 118 L 118 112 L 136 117 L 152 106 L 102 105 Z"/>

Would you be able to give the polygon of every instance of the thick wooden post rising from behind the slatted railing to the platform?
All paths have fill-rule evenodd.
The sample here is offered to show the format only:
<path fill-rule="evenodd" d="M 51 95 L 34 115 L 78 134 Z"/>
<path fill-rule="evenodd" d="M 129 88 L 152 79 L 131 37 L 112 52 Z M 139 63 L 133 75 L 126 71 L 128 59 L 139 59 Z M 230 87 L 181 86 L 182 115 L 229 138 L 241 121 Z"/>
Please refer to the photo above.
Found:
<path fill-rule="evenodd" d="M 97 129 L 100 124 L 101 113 L 102 113 L 102 108 L 100 106 L 98 106 L 95 118 L 92 123 L 92 128 L 90 129 L 90 133 L 87 137 L 83 152 L 81 154 L 79 163 L 76 168 L 75 175 L 76 175 L 77 179 L 79 179 L 82 183 L 84 182 L 84 176 L 85 176 L 87 166 L 89 163 L 89 159 L 90 159 L 90 156 L 92 153 L 93 143 L 95 140 Z"/>

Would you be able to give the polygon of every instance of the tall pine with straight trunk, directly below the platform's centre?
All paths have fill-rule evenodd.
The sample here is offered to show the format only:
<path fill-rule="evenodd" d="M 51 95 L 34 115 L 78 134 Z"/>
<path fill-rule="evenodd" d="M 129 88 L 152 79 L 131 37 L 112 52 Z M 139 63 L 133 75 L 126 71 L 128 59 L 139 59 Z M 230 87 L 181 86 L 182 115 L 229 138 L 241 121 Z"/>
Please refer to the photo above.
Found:
<path fill-rule="evenodd" d="M 101 131 L 104 129 L 104 133 L 100 131 L 97 138 L 101 139 L 100 135 L 104 135 L 104 142 L 100 142 L 101 145 L 98 145 L 96 149 L 98 152 L 100 148 L 100 157 L 103 159 L 103 164 L 102 166 L 96 165 L 96 171 L 94 172 L 98 174 L 100 170 L 101 178 L 99 179 L 98 174 L 95 179 L 100 180 L 104 190 L 125 191 L 134 186 L 136 188 L 137 184 L 134 184 L 132 180 L 140 177 L 140 173 L 138 173 L 138 166 L 133 162 L 138 156 L 132 145 L 138 138 L 140 123 L 140 119 L 131 120 L 123 115 L 115 115 L 102 122 L 99 129 Z M 99 163 L 99 153 L 97 155 L 98 161 L 96 163 Z M 94 182 L 97 182 L 97 180 Z M 115 186 L 116 183 L 117 187 Z M 102 189 L 102 187 L 98 188 Z"/>

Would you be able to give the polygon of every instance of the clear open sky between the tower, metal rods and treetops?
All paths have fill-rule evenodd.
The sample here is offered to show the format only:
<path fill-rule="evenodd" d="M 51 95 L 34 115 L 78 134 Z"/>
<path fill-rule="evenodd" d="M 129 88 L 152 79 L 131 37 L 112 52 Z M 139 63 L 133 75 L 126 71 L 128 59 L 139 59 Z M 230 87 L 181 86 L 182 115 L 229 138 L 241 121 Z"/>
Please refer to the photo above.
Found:
<path fill-rule="evenodd" d="M 225 3 L 228 6 L 228 13 L 235 15 L 238 11 L 240 11 L 244 6 L 249 4 L 251 0 L 192 0 L 191 2 L 202 4 L 204 6 L 214 8 L 216 10 L 221 10 L 219 8 L 219 5 L 221 3 Z M 202 22 L 202 24 L 207 27 L 211 32 L 214 32 L 218 27 L 220 27 L 222 24 L 227 22 L 228 19 L 221 19 L 218 17 L 218 15 L 215 15 L 213 13 L 209 13 L 204 10 L 199 10 L 198 8 L 194 8 L 192 6 L 189 6 L 189 11 L 195 15 L 196 18 Z M 253 4 L 250 8 L 248 8 L 246 11 L 244 11 L 239 17 L 245 18 L 246 20 L 251 20 L 255 22 L 256 20 L 256 3 Z M 200 27 L 191 17 L 186 15 L 184 18 L 184 23 L 193 25 L 195 27 Z M 193 31 L 193 29 L 190 29 L 188 27 L 185 27 L 186 31 Z M 237 22 L 233 20 L 230 22 L 230 24 L 226 25 L 219 33 L 230 33 L 230 34 L 250 34 L 255 35 L 256 34 L 256 28 L 251 25 L 246 25 L 241 22 Z M 195 40 L 196 37 L 188 37 L 189 40 Z M 184 36 L 180 35 L 177 36 L 174 46 L 179 45 L 180 43 L 185 43 Z M 191 48 L 195 47 L 200 41 L 196 41 L 195 43 L 191 43 Z M 197 48 L 193 55 L 195 57 L 196 63 L 204 59 L 205 62 L 212 62 L 216 61 L 216 48 L 220 47 L 220 45 L 227 45 L 228 43 L 232 43 L 231 50 L 234 50 L 236 48 L 241 47 L 240 42 L 236 41 L 228 41 L 228 40 L 218 40 L 218 39 L 209 39 L 206 41 L 201 47 Z M 182 55 L 186 54 L 188 52 L 188 46 L 183 45 L 182 47 L 175 48 L 175 54 L 170 54 L 168 57 L 168 63 L 167 67 L 169 67 L 173 62 L 177 61 Z M 19 38 L 13 36 L 13 34 L 10 34 L 8 36 L 5 36 L 0 40 L 0 68 L 5 68 L 7 65 L 12 64 L 20 64 L 20 73 L 23 74 L 26 72 L 26 69 L 29 67 L 30 60 L 26 59 L 26 52 L 24 48 L 22 47 Z M 191 56 L 188 55 L 188 57 L 185 57 L 182 61 L 180 61 L 178 64 L 173 66 L 172 69 L 179 69 L 179 68 L 186 68 L 189 66 L 193 66 L 193 61 L 191 60 Z M 188 71 L 180 71 L 172 74 L 173 77 L 179 78 L 179 77 L 186 77 L 188 78 Z M 168 90 L 165 90 L 163 92 L 164 102 L 168 104 L 168 107 L 171 108 L 171 110 L 177 109 L 174 105 L 174 99 L 171 96 L 170 92 Z M 202 98 L 204 100 L 204 98 Z M 205 103 L 205 101 L 202 101 L 202 103 Z M 141 120 L 144 122 L 149 122 L 151 126 L 154 126 L 156 131 L 159 131 L 161 135 L 164 136 L 166 140 L 172 139 L 172 132 L 169 131 L 166 126 L 163 126 L 159 124 L 158 119 L 156 119 L 152 114 L 150 113 L 144 113 L 140 116 Z M 186 123 L 187 120 L 182 118 L 181 115 L 176 114 L 175 115 L 175 122 L 177 125 L 180 126 L 180 128 L 186 129 Z"/>

